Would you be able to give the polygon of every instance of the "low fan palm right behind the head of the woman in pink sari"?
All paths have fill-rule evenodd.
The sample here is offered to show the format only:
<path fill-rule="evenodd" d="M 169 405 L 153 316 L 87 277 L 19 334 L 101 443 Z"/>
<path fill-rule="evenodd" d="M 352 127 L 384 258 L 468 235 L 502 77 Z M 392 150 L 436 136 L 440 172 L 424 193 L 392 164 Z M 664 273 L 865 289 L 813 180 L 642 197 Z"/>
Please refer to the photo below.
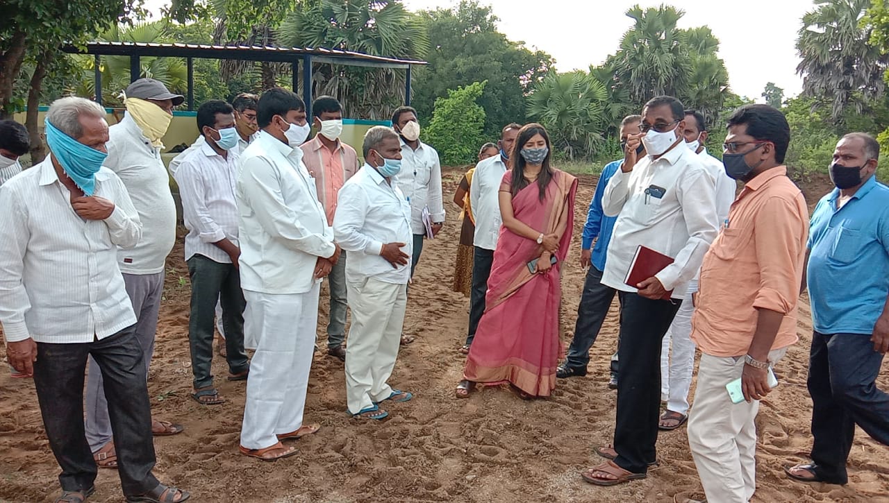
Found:
<path fill-rule="evenodd" d="M 607 99 L 605 84 L 587 73 L 551 73 L 534 86 L 527 115 L 547 128 L 557 155 L 589 158 L 603 141 Z"/>

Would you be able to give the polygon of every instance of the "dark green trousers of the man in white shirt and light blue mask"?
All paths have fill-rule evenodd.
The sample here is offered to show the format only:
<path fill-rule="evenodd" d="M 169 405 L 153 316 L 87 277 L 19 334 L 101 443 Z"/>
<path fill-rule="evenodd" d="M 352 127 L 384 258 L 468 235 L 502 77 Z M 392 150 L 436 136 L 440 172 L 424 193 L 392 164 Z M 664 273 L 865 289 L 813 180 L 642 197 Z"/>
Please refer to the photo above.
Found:
<path fill-rule="evenodd" d="M 226 360 L 228 371 L 233 374 L 246 371 L 247 354 L 244 353 L 244 291 L 237 268 L 193 255 L 188 259 L 188 277 L 191 280 L 191 312 L 188 315 L 188 346 L 191 350 L 191 371 L 194 387 L 212 386 L 210 363 L 213 359 L 213 317 L 216 315 L 216 299 L 222 305 L 222 331 L 225 331 Z"/>

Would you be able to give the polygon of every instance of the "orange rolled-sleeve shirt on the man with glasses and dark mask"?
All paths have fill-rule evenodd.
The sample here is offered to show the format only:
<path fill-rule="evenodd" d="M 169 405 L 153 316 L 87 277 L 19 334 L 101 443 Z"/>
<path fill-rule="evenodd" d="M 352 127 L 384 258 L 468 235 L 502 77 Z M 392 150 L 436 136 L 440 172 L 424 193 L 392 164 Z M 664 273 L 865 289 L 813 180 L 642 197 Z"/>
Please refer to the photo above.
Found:
<path fill-rule="evenodd" d="M 805 198 L 785 166 L 747 183 L 701 265 L 692 339 L 703 353 L 746 355 L 757 308 L 784 315 L 773 349 L 797 342 L 808 228 Z"/>

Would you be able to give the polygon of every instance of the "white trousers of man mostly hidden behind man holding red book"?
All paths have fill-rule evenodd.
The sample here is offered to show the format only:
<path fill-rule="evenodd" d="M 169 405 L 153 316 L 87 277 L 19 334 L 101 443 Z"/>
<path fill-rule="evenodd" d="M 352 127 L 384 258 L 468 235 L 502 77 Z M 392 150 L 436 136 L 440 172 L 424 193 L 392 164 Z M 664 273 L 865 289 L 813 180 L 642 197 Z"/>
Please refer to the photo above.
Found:
<path fill-rule="evenodd" d="M 688 285 L 688 293 L 682 299 L 673 323 L 664 335 L 661 346 L 661 400 L 667 402 L 667 410 L 685 414 L 688 411 L 688 390 L 692 387 L 694 372 L 694 342 L 692 341 L 692 292 L 698 291 L 698 280 Z M 670 342 L 673 350 L 670 351 Z"/>

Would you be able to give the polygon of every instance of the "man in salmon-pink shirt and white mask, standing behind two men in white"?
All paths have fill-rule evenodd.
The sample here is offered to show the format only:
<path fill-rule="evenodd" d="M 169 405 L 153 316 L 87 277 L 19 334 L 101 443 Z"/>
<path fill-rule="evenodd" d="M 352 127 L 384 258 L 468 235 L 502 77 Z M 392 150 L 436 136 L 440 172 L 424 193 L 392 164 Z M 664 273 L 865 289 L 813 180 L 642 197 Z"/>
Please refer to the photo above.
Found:
<path fill-rule="evenodd" d="M 342 106 L 332 96 L 321 96 L 312 102 L 314 126 L 318 130 L 315 138 L 303 143 L 302 162 L 308 174 L 315 178 L 318 199 L 327 213 L 327 225 L 333 225 L 336 212 L 336 199 L 342 184 L 352 177 L 361 166 L 355 148 L 340 141 L 342 133 Z M 327 323 L 327 354 L 340 361 L 346 361 L 346 254 L 327 276 L 330 282 L 331 310 Z"/>

